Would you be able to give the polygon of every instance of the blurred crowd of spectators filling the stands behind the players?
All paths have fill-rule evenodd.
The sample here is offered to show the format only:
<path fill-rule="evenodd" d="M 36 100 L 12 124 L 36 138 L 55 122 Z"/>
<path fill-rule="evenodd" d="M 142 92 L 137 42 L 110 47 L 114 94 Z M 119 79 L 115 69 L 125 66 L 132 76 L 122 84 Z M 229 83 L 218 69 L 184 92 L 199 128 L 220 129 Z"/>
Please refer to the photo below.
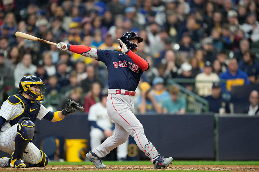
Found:
<path fill-rule="evenodd" d="M 3 0 L 1 103 L 24 75 L 45 82 L 46 103 L 58 106 L 73 97 L 86 112 L 108 88 L 102 62 L 18 38 L 16 31 L 116 51 L 117 39 L 134 31 L 144 39 L 137 54 L 150 65 L 135 96 L 136 111 L 184 114 L 186 99 L 168 86 L 170 79 L 185 79 L 178 84 L 211 103 L 220 97 L 218 89 L 230 95 L 232 86 L 259 83 L 258 19 L 256 0 Z"/>

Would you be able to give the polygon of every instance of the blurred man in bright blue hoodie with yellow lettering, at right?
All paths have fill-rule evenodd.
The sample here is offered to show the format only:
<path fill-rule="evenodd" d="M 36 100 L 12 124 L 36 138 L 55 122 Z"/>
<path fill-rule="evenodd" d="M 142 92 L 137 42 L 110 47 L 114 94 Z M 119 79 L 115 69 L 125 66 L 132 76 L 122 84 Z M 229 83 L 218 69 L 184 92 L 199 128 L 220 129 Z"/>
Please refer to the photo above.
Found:
<path fill-rule="evenodd" d="M 250 84 L 247 74 L 238 68 L 237 59 L 235 58 L 229 60 L 228 69 L 220 74 L 220 80 L 226 80 L 226 83 L 221 83 L 220 86 L 223 93 L 228 94 L 230 94 L 232 86 Z"/>

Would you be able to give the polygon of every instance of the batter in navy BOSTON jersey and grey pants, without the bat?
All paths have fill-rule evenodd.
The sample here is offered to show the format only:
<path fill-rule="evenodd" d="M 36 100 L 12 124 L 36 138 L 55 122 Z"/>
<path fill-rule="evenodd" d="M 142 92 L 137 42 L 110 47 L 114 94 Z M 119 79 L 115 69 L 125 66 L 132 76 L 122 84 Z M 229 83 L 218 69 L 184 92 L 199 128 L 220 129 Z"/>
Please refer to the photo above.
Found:
<path fill-rule="evenodd" d="M 57 48 L 63 51 L 72 51 L 82 56 L 95 58 L 107 66 L 108 69 L 108 98 L 106 101 L 108 116 L 115 122 L 115 134 L 108 137 L 97 148 L 86 154 L 96 168 L 106 168 L 102 157 L 111 150 L 127 141 L 129 134 L 146 156 L 148 156 L 156 169 L 167 167 L 173 158 L 164 158 L 158 153 L 155 146 L 148 141 L 144 128 L 134 116 L 134 102 L 132 96 L 140 81 L 143 71 L 148 70 L 149 64 L 145 58 L 136 54 L 138 43 L 143 39 L 136 32 L 127 32 L 118 39 L 121 52 L 112 50 L 99 50 L 88 46 L 75 46 L 59 42 Z M 66 48 L 62 48 L 62 46 Z"/>

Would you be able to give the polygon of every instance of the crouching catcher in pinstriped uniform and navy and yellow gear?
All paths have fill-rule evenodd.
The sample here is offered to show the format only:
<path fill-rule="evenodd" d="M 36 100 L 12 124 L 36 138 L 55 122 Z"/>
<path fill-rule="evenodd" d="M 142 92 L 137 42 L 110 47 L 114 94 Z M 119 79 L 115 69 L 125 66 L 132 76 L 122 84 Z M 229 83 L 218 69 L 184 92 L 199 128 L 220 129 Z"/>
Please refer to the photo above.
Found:
<path fill-rule="evenodd" d="M 45 94 L 43 86 L 39 77 L 24 76 L 19 83 L 20 92 L 3 102 L 0 110 L 0 149 L 12 155 L 11 158 L 0 158 L 0 167 L 45 167 L 48 164 L 47 155 L 30 142 L 34 135 L 34 122 L 36 118 L 52 122 L 62 120 L 69 112 L 75 112 L 75 101 L 69 99 L 65 109 L 51 112 L 39 101 Z"/>

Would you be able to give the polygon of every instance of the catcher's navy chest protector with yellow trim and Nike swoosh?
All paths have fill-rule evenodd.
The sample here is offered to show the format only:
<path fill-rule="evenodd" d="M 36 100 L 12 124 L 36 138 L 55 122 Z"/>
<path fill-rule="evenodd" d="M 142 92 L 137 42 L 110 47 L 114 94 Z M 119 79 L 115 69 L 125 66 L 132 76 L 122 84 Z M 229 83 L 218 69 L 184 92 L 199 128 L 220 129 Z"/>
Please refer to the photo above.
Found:
<path fill-rule="evenodd" d="M 22 117 L 29 117 L 32 122 L 35 122 L 41 106 L 39 100 L 31 100 L 25 98 L 22 94 L 15 94 L 8 97 L 8 101 L 13 105 L 22 103 L 23 107 L 22 114 L 17 114 L 17 116 L 9 122 L 11 126 L 17 124 Z"/>

